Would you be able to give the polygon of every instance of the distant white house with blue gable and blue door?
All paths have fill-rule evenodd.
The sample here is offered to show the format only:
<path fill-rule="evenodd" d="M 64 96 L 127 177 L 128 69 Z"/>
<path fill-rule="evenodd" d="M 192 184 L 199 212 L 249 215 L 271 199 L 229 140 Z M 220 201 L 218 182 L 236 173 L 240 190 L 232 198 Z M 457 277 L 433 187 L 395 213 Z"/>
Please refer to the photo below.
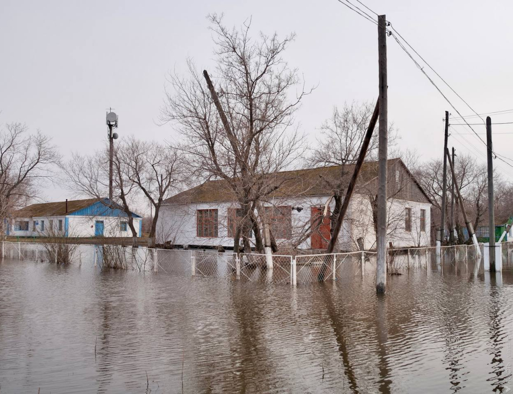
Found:
<path fill-rule="evenodd" d="M 142 218 L 132 213 L 142 233 Z M 88 199 L 32 204 L 15 211 L 6 233 L 14 237 L 132 237 L 128 215 L 109 199 Z"/>

